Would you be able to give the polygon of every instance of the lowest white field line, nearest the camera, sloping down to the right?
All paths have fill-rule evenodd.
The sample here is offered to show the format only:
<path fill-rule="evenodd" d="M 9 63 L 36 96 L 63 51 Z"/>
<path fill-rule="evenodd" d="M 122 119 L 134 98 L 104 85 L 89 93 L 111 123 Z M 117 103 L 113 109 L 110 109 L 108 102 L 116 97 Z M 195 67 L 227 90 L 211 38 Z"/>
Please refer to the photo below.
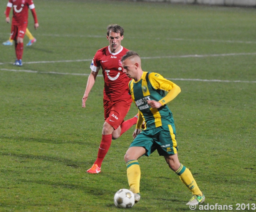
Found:
<path fill-rule="evenodd" d="M 59 74 L 59 75 L 82 75 L 89 76 L 89 74 L 76 74 L 76 73 L 61 73 L 53 71 L 32 71 L 32 70 L 16 70 L 16 69 L 6 69 L 0 68 L 1 71 L 14 71 L 14 72 L 27 72 L 27 73 L 39 73 L 39 74 Z M 97 75 L 103 76 L 103 75 Z M 256 83 L 256 81 L 241 81 L 241 80 L 204 80 L 204 79 L 183 79 L 183 78 L 166 78 L 167 80 L 179 80 L 179 81 L 201 81 L 201 82 L 246 82 L 246 83 Z"/>

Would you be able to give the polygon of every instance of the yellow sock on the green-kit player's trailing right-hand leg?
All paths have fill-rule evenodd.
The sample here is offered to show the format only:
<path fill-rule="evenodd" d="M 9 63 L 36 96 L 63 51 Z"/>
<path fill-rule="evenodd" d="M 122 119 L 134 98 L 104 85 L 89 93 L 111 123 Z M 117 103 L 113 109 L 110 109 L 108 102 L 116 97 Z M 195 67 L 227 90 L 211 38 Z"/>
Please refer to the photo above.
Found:
<path fill-rule="evenodd" d="M 193 195 L 203 195 L 203 193 L 198 188 L 196 180 L 194 179 L 189 169 L 180 164 L 180 168 L 177 171 L 175 171 L 175 173 L 179 175 L 182 183 L 184 183 L 188 187 L 189 191 L 191 191 Z"/>

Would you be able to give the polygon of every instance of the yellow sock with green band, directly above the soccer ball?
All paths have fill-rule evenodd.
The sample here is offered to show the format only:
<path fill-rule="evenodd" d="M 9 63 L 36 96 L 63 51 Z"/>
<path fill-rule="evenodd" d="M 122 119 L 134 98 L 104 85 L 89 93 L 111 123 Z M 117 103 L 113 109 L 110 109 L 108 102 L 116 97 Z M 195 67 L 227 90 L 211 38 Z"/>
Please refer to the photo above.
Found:
<path fill-rule="evenodd" d="M 127 178 L 130 186 L 130 191 L 133 193 L 140 192 L 140 165 L 137 160 L 128 161 L 127 166 Z"/>

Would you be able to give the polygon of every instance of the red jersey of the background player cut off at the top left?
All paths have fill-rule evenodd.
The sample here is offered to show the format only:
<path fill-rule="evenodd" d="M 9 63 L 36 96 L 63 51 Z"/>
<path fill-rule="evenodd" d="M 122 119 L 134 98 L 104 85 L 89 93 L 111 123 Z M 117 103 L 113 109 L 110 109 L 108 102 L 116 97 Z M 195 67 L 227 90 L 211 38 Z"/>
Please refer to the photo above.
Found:
<path fill-rule="evenodd" d="M 28 8 L 35 8 L 33 0 L 9 0 L 7 7 L 13 7 L 12 25 L 28 24 Z"/>

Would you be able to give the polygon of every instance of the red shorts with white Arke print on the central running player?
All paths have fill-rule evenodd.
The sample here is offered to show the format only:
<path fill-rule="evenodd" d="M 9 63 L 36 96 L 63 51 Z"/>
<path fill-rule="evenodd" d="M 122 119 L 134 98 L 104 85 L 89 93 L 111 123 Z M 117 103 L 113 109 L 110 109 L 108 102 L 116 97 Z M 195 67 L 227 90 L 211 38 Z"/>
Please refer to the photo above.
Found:
<path fill-rule="evenodd" d="M 105 122 L 108 122 L 116 130 L 123 122 L 132 104 L 132 98 L 116 101 L 103 99 Z"/>

